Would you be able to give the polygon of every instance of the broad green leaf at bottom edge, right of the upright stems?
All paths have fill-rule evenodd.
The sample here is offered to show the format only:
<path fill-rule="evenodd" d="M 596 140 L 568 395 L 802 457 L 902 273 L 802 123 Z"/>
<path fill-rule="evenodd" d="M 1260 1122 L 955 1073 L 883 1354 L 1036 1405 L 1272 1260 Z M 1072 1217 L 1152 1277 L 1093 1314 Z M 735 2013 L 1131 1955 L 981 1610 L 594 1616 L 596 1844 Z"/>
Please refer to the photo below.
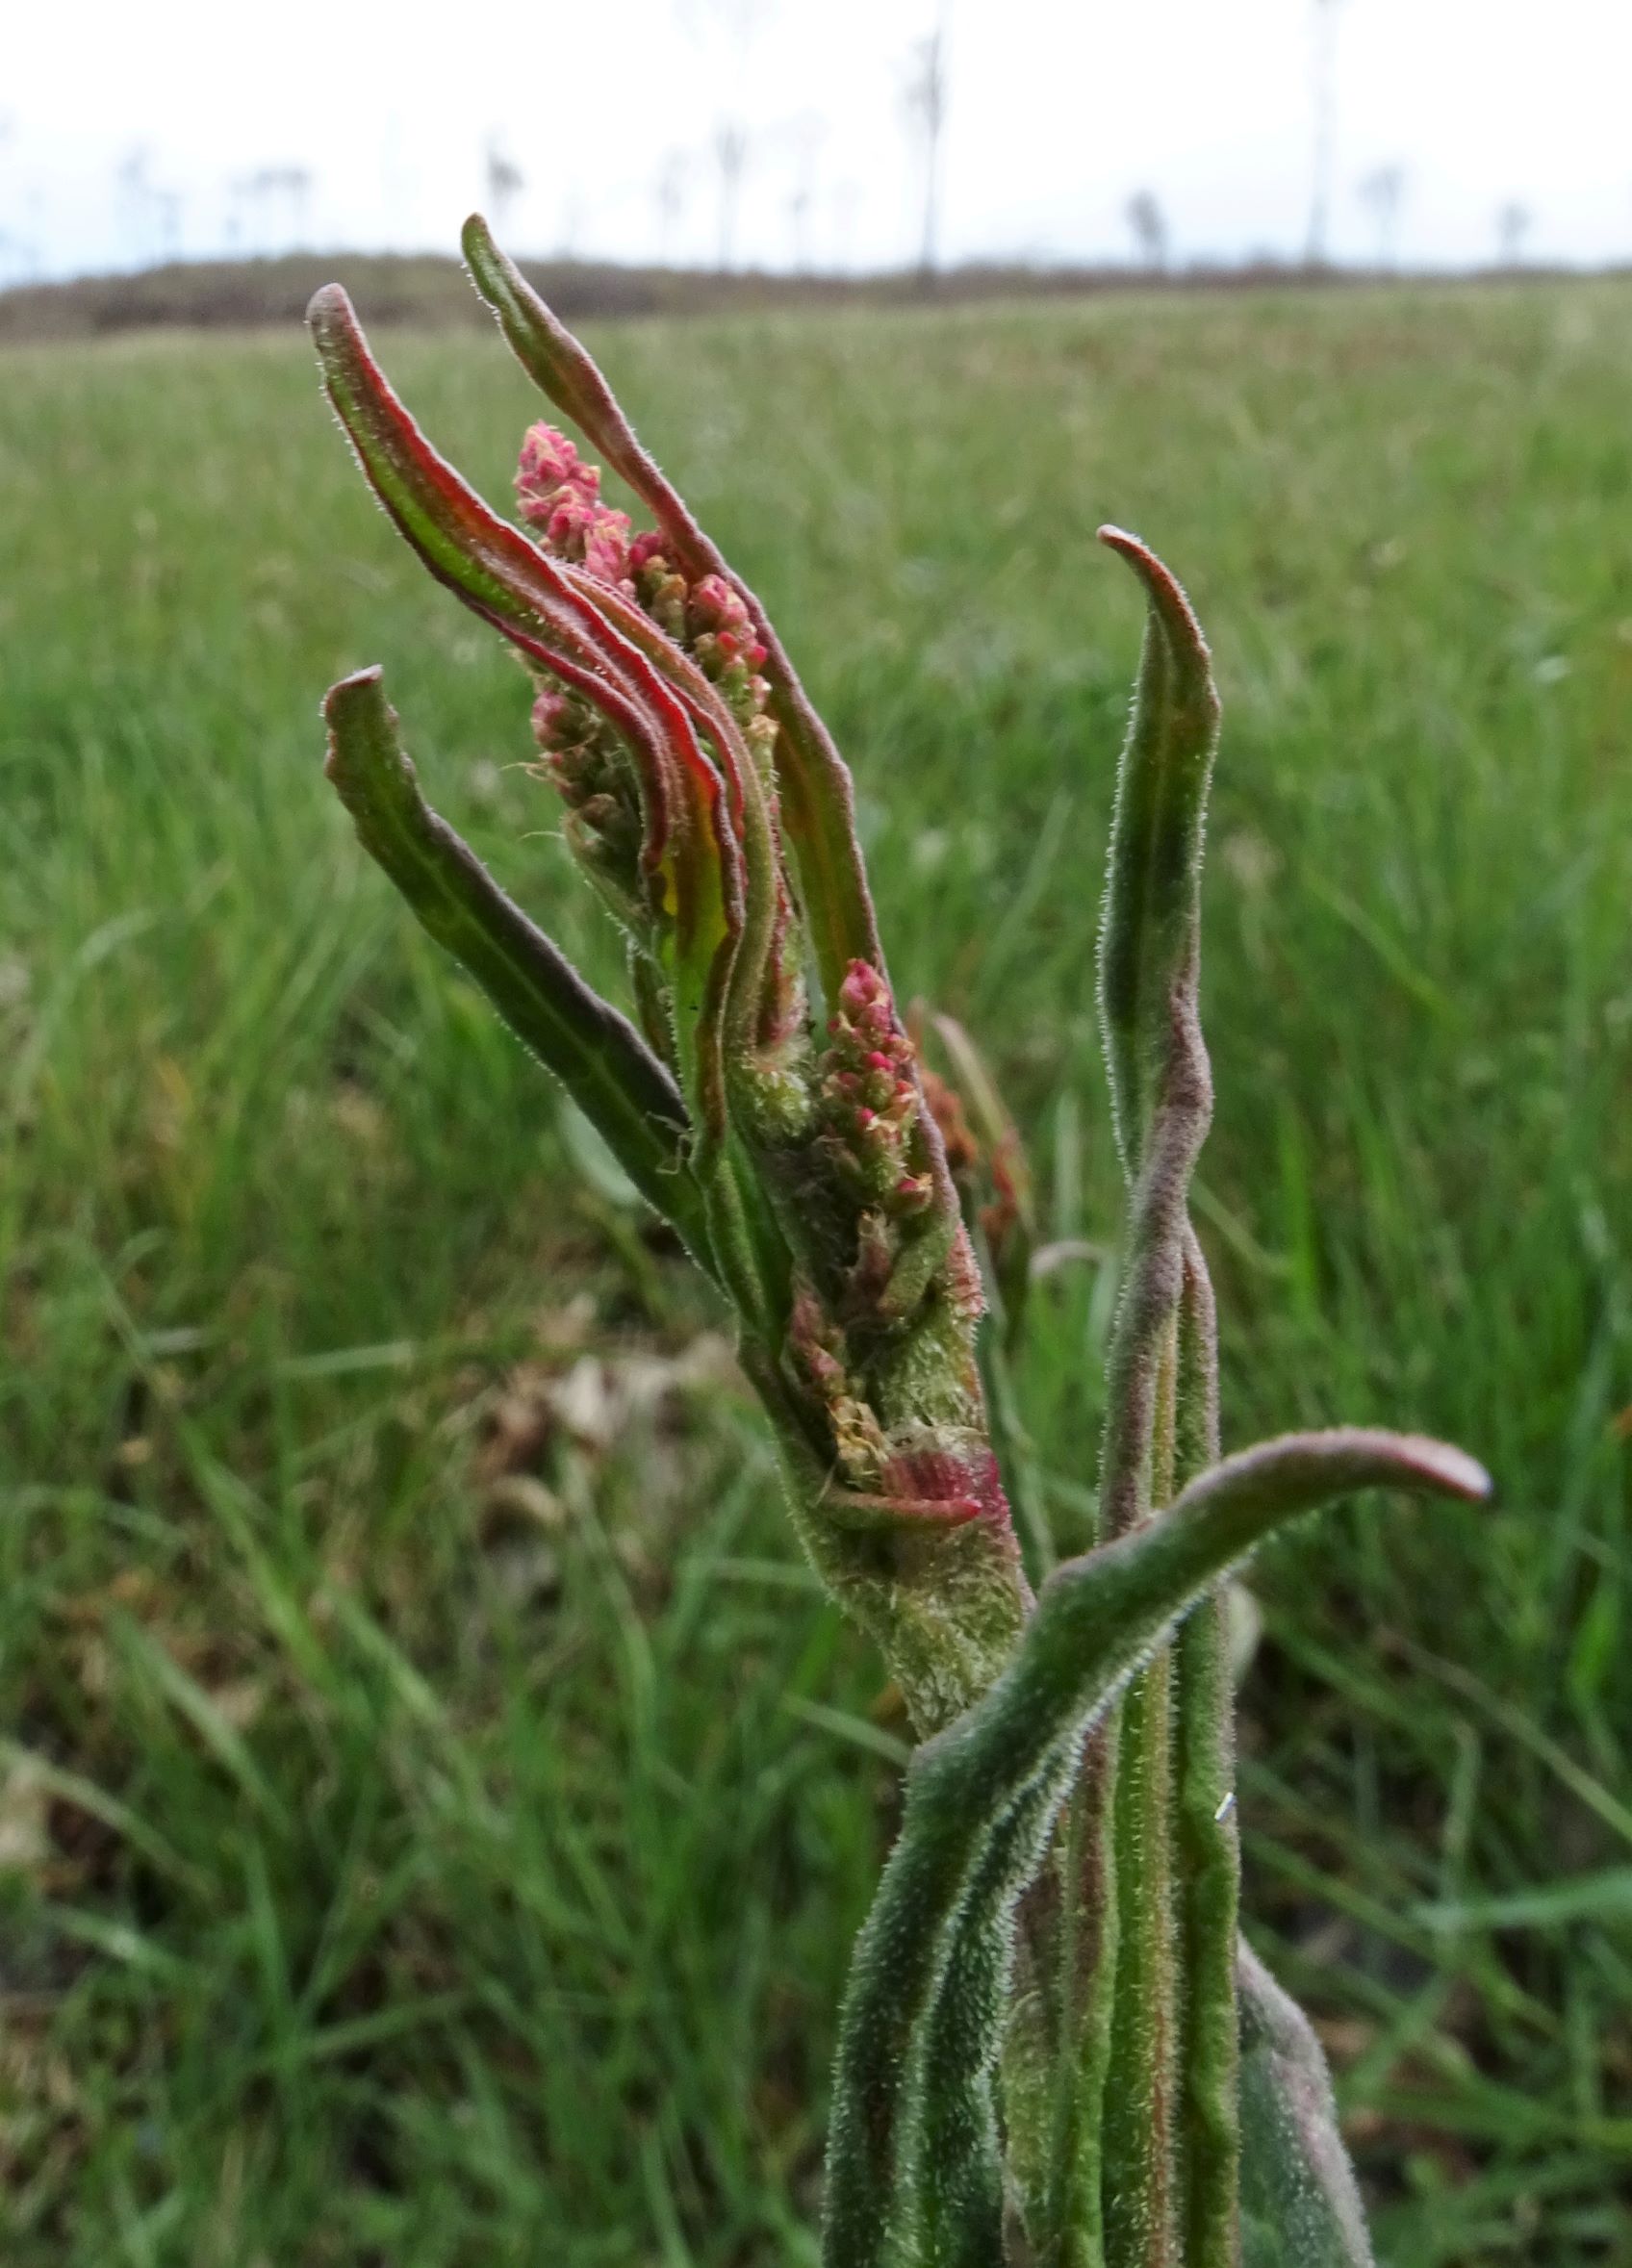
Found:
<path fill-rule="evenodd" d="M 1321 2043 L 1242 1941 L 1242 2268 L 1374 2268 Z"/>

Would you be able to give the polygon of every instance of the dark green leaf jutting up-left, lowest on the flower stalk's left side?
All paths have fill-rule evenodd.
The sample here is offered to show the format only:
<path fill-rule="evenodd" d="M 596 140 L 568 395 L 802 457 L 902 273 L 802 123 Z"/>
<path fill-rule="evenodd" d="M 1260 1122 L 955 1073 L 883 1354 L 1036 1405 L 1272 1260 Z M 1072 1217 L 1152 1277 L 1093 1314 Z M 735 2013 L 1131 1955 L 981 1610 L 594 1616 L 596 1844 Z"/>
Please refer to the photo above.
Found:
<path fill-rule="evenodd" d="M 685 1161 L 685 1102 L 664 1066 L 426 805 L 379 669 L 333 685 L 324 719 L 324 769 L 363 848 L 712 1272 L 703 1200 Z"/>

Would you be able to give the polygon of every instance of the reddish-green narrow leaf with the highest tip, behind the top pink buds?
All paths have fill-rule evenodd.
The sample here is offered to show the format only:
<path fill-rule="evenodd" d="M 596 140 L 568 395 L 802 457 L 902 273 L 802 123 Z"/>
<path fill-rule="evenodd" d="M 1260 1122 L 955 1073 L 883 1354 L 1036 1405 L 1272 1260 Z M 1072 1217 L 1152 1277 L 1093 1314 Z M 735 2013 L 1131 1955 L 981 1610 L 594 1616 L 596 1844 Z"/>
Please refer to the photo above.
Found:
<path fill-rule="evenodd" d="M 766 610 L 635 438 L 592 356 L 499 249 L 478 213 L 465 222 L 462 240 L 476 288 L 494 308 L 505 340 L 533 383 L 628 481 L 673 544 L 682 574 L 694 581 L 705 574 L 723 576 L 748 608 L 755 635 L 766 649 L 771 712 L 782 728 L 777 739 L 782 823 L 798 862 L 816 968 L 832 1002 L 850 962 L 870 962 L 884 973 L 884 950 L 855 835 L 850 771 L 811 708 Z"/>

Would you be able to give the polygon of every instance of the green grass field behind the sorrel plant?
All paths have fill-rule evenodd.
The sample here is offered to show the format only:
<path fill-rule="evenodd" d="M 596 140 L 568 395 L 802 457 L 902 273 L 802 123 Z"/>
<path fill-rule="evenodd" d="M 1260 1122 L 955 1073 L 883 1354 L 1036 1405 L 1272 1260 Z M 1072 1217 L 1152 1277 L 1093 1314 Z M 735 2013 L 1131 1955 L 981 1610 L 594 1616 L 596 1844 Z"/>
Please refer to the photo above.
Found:
<path fill-rule="evenodd" d="M 1253 1935 L 1396 2268 L 1625 2259 L 1632 290 L 594 342 L 852 760 L 900 991 L 986 1043 L 1095 1243 L 1138 651 L 1095 524 L 1185 576 L 1226 1440 L 1414 1424 L 1503 1492 L 1256 1569 Z M 503 494 L 501 347 L 390 363 Z M 7 2261 L 809 2261 L 877 1674 L 705 1295 L 562 1168 L 317 771 L 317 696 L 383 660 L 442 807 L 614 982 L 510 769 L 524 680 L 299 338 L 0 388 Z M 1111 1297 L 1052 1277 L 1022 1379 L 1068 1542 Z"/>

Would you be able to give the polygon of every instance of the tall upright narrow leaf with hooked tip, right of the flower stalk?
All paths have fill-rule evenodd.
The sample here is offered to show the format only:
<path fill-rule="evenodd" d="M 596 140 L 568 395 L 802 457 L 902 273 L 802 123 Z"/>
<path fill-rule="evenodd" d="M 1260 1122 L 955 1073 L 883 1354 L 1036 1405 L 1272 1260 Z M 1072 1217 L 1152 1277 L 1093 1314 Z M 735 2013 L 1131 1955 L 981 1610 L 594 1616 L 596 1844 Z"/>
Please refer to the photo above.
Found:
<path fill-rule="evenodd" d="M 1115 1538 L 1170 1499 L 1176 1479 L 1179 1295 L 1190 1234 L 1188 1188 L 1213 1114 L 1197 1014 L 1199 889 L 1217 699 L 1201 628 L 1163 562 L 1136 538 L 1102 540 L 1140 576 L 1147 628 L 1117 764 L 1099 932 L 1099 1007 L 1122 1163 L 1131 1182 L 1122 1300 L 1108 1359 L 1099 1529 Z M 1106 2105 L 1099 2180 L 1108 2268 L 1167 2268 L 1179 2257 L 1179 1914 L 1174 1901 L 1174 1694 L 1158 1653 L 1127 1696 L 1117 1742 L 1111 1894 L 1117 1901 L 1108 2043 L 1079 2084 Z M 1083 2012 L 1079 2009 L 1079 2021 Z M 1065 2202 L 1068 2216 L 1081 2200 Z"/>

